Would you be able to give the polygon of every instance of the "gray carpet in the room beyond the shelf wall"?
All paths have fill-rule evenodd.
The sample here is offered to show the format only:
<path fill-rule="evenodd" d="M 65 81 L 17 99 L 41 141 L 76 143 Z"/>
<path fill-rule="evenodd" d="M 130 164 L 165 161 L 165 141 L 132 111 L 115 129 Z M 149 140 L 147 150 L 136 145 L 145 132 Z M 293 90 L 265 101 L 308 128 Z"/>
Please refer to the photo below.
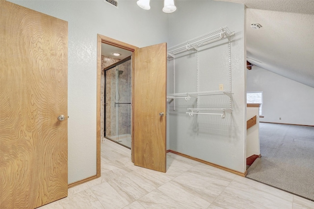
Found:
<path fill-rule="evenodd" d="M 314 200 L 314 127 L 261 122 L 260 144 L 247 177 Z"/>

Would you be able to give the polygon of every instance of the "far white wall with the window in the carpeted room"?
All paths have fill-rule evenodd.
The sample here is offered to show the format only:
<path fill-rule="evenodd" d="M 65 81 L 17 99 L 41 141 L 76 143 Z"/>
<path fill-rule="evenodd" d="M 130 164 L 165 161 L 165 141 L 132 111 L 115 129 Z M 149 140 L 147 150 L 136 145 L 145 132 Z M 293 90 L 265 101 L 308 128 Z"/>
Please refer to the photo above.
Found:
<path fill-rule="evenodd" d="M 247 91 L 263 92 L 261 122 L 314 125 L 314 88 L 253 66 Z"/>

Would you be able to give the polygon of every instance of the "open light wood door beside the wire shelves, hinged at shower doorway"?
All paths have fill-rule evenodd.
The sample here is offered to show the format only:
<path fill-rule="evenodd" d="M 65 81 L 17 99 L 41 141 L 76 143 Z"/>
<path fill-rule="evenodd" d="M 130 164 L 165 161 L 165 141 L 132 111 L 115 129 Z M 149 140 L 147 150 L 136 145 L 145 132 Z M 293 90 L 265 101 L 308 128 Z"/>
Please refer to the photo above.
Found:
<path fill-rule="evenodd" d="M 161 172 L 166 172 L 166 53 L 166 43 L 134 51 L 134 164 Z"/>

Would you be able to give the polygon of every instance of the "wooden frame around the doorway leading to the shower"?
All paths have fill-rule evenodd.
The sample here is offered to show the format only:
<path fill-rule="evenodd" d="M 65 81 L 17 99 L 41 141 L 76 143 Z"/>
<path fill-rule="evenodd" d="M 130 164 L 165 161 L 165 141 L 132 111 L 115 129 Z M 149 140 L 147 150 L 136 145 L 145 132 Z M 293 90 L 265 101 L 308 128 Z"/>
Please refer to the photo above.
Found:
<path fill-rule="evenodd" d="M 101 77 L 102 77 L 102 43 L 116 46 L 119 48 L 123 48 L 125 50 L 132 52 L 132 69 L 131 69 L 131 78 L 132 78 L 132 101 L 131 101 L 131 107 L 132 107 L 132 113 L 131 113 L 131 160 L 134 162 L 134 154 L 133 154 L 133 134 L 134 134 L 134 50 L 138 48 L 137 46 L 132 46 L 130 44 L 103 36 L 101 34 L 97 34 L 97 105 L 96 105 L 96 170 L 97 170 L 97 178 L 101 176 L 101 93 L 102 93 L 102 87 L 101 87 Z"/>

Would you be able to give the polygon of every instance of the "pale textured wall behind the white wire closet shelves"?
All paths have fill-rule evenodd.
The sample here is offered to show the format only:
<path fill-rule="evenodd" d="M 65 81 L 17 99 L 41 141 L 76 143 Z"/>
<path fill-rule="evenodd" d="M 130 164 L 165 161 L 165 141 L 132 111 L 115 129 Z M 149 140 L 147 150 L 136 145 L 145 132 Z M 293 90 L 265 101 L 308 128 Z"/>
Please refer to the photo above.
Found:
<path fill-rule="evenodd" d="M 246 170 L 245 94 L 245 8 L 242 4 L 221 1 L 177 1 L 177 11 L 169 16 L 168 47 L 227 25 L 235 31 L 231 44 L 233 113 L 220 116 L 190 117 L 186 108 L 195 106 L 176 99 L 176 111 L 170 104 L 170 149 L 239 172 Z M 202 47 L 199 52 L 200 89 L 217 91 L 219 84 L 229 90 L 227 39 Z M 176 55 L 176 93 L 196 92 L 196 53 Z M 173 93 L 173 61 L 168 61 L 168 93 Z M 225 96 L 227 98 L 227 96 Z M 224 100 L 224 98 L 222 99 Z M 206 101 L 204 101 L 206 102 Z M 214 102 L 221 102 L 217 98 Z M 223 107 L 227 103 L 222 101 Z M 208 101 L 211 104 L 211 101 Z"/>

